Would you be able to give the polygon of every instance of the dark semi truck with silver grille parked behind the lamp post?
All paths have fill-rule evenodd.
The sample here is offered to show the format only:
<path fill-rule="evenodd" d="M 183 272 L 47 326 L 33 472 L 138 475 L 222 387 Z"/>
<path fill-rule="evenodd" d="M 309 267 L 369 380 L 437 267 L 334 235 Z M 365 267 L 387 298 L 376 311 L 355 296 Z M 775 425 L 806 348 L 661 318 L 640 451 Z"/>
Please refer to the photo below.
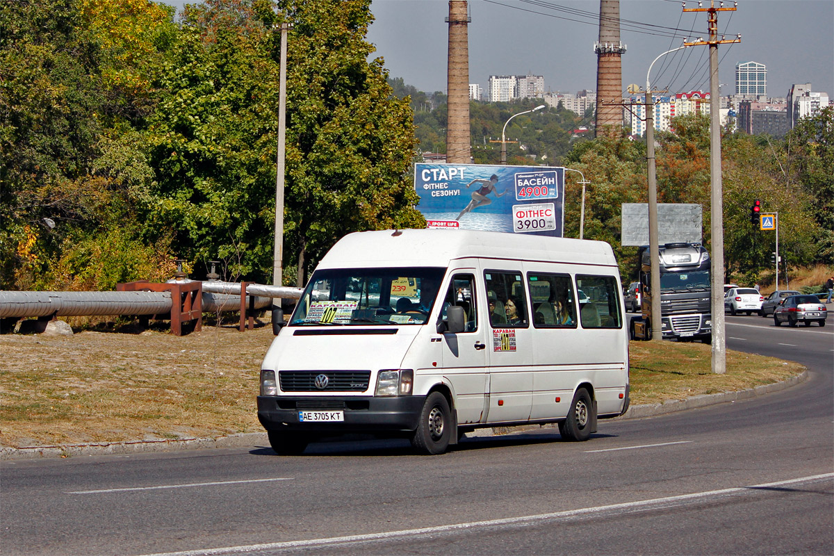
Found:
<path fill-rule="evenodd" d="M 661 333 L 663 338 L 712 341 L 710 253 L 701 243 L 666 243 L 658 247 L 661 273 Z M 649 247 L 638 251 L 641 316 L 631 321 L 631 339 L 651 339 L 651 257 Z"/>

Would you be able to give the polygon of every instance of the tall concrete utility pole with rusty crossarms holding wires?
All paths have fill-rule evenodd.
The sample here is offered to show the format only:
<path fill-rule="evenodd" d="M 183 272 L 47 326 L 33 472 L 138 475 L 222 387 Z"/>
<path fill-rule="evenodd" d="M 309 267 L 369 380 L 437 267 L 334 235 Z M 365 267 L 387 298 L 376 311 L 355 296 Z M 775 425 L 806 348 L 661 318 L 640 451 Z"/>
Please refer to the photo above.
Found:
<path fill-rule="evenodd" d="M 718 80 L 718 45 L 741 43 L 741 36 L 736 39 L 718 39 L 718 12 L 735 12 L 737 3 L 732 8 L 724 8 L 724 3 L 716 8 L 715 0 L 710 1 L 709 8 L 686 8 L 684 12 L 706 12 L 708 14 L 710 38 L 685 43 L 686 46 L 710 47 L 710 228 L 712 240 L 712 372 L 726 373 L 726 336 L 724 322 L 724 202 L 721 193 L 721 92 Z M 700 3 L 699 3 L 700 6 Z"/>

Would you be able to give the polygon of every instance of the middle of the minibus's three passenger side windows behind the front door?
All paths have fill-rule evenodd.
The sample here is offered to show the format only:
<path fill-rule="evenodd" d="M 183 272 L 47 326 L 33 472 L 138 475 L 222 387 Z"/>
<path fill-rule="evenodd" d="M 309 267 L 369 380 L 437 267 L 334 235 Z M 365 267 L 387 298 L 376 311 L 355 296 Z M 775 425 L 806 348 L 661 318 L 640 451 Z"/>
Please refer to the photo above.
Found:
<path fill-rule="evenodd" d="M 528 273 L 535 328 L 576 328 L 576 304 L 570 276 Z"/>

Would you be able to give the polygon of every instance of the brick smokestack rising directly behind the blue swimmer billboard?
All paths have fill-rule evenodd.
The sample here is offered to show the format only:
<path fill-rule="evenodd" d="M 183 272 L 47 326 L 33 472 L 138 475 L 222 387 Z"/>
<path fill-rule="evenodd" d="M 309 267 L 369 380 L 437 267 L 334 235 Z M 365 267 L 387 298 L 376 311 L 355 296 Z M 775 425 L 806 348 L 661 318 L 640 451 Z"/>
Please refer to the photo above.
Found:
<path fill-rule="evenodd" d="M 448 112 L 446 162 L 470 163 L 469 36 L 471 19 L 465 0 L 449 1 Z"/>

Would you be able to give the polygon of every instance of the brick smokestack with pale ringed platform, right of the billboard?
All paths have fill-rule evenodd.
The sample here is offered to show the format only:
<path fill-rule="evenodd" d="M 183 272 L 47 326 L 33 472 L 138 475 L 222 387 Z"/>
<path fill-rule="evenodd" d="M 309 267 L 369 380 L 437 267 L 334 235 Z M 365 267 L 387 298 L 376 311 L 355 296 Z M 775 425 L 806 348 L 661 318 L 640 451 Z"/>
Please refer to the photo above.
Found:
<path fill-rule="evenodd" d="M 596 53 L 595 135 L 616 137 L 622 129 L 622 61 L 625 44 L 620 43 L 620 0 L 600 0 L 600 40 Z"/>

